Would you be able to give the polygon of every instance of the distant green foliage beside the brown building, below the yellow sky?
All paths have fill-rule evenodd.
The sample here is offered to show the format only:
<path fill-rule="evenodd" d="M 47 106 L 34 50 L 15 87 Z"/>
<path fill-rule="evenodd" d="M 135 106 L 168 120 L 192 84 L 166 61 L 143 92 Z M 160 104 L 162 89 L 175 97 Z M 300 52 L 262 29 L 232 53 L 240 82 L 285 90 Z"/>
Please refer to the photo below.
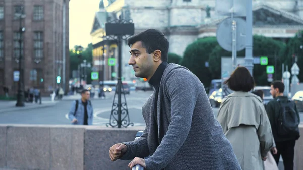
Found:
<path fill-rule="evenodd" d="M 75 46 L 74 49 L 77 49 L 79 46 Z M 80 54 L 77 54 L 76 50 L 70 50 L 70 78 L 72 78 L 73 70 L 78 70 L 78 65 L 86 60 L 87 63 L 92 65 L 92 44 L 88 44 L 86 48 Z M 91 84 L 91 68 L 86 68 L 87 72 L 87 84 Z"/>

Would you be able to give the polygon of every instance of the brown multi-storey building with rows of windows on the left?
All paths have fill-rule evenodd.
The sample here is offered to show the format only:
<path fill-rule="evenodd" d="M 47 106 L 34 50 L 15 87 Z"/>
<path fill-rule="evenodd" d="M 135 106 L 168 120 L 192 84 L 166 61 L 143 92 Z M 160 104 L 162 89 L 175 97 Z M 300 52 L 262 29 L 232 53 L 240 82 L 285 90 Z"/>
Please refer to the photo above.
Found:
<path fill-rule="evenodd" d="M 17 93 L 20 50 L 24 90 L 36 87 L 46 95 L 64 83 L 68 89 L 68 23 L 69 0 L 0 0 L 0 95 L 2 87 Z"/>

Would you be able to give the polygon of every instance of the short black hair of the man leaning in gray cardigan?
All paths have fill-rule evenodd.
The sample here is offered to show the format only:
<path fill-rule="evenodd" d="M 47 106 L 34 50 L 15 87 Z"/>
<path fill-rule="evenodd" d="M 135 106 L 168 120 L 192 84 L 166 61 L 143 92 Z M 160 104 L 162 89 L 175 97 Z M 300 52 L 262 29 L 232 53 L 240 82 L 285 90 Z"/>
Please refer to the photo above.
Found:
<path fill-rule="evenodd" d="M 146 52 L 151 54 L 155 50 L 161 51 L 161 61 L 167 61 L 167 53 L 169 48 L 169 42 L 164 37 L 164 34 L 156 29 L 148 29 L 137 35 L 134 35 L 127 40 L 127 44 L 131 47 L 134 43 L 141 41 L 142 47 L 146 48 Z"/>

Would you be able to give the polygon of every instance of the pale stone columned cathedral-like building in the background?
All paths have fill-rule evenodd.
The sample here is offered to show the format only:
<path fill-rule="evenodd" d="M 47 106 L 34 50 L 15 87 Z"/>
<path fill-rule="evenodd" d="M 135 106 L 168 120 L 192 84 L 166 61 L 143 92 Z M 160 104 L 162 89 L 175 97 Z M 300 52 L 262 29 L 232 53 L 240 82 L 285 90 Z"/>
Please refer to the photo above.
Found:
<path fill-rule="evenodd" d="M 104 5 L 105 18 L 118 17 L 132 19 L 135 33 L 149 28 L 162 31 L 170 42 L 169 52 L 183 55 L 186 47 L 197 40 L 208 36 L 216 36 L 218 24 L 227 16 L 216 13 L 216 0 L 101 0 Z M 303 29 L 303 0 L 253 0 L 254 34 L 273 37 L 287 41 L 298 30 Z M 96 18 L 98 16 L 96 15 Z M 99 24 L 99 34 L 104 35 L 104 21 L 95 20 Z M 96 23 L 99 22 L 99 23 Z M 92 31 L 93 43 L 102 42 L 102 36 Z M 127 66 L 129 47 L 123 44 L 122 65 L 123 77 L 131 80 L 133 70 Z"/>

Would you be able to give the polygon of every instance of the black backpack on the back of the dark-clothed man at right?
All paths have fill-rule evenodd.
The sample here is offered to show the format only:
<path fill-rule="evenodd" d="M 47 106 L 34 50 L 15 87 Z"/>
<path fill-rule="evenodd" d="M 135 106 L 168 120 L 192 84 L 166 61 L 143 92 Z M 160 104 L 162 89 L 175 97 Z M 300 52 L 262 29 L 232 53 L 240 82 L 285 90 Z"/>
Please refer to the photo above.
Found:
<path fill-rule="evenodd" d="M 287 99 L 287 102 L 281 102 L 277 99 L 281 109 L 278 116 L 277 132 L 280 136 L 299 138 L 299 118 L 295 111 L 294 103 Z"/>

